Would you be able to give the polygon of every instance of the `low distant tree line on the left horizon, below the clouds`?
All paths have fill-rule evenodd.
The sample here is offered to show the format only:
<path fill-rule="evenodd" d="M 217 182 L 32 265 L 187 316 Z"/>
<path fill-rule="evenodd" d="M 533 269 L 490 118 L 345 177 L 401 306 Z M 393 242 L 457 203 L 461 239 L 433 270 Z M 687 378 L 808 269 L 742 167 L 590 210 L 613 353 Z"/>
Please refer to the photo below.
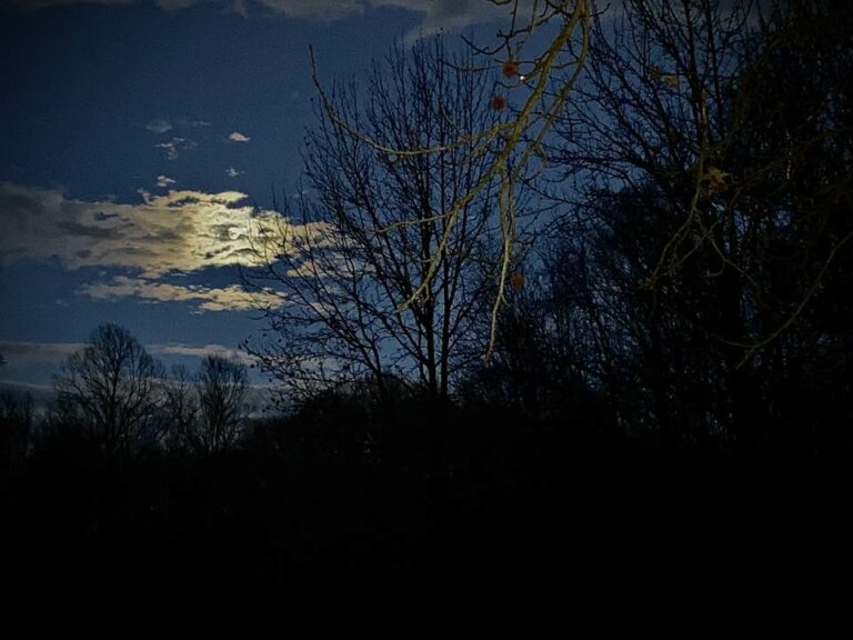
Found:
<path fill-rule="evenodd" d="M 33 443 L 79 440 L 108 457 L 145 449 L 194 454 L 233 449 L 249 417 L 245 364 L 219 354 L 199 371 L 165 368 L 123 327 L 101 324 L 62 363 L 56 400 L 40 420 L 29 394 L 0 398 L 3 453 L 26 454 Z M 14 450 L 14 453 L 12 453 Z"/>

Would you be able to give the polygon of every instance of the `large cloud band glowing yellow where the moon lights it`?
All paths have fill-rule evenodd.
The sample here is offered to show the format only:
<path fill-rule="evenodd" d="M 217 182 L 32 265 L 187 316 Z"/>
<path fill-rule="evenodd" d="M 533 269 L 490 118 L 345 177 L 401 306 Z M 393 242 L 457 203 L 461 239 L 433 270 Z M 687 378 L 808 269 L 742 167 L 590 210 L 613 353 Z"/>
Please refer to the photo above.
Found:
<path fill-rule="evenodd" d="M 66 198 L 56 189 L 0 181 L 0 264 L 57 259 L 66 269 L 121 268 L 147 279 L 251 264 L 251 238 L 312 232 L 259 211 L 239 191 L 170 191 L 142 202 Z"/>

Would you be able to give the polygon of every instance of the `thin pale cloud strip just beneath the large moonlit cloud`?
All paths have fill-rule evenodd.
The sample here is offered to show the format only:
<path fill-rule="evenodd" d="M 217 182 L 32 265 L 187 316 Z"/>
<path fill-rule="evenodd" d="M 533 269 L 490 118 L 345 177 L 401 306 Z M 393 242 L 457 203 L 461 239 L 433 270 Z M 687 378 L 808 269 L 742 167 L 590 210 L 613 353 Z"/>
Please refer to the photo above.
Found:
<path fill-rule="evenodd" d="M 149 303 L 192 302 L 199 311 L 247 311 L 261 306 L 278 307 L 282 299 L 271 290 L 250 293 L 237 284 L 210 288 L 199 284 L 174 284 L 145 278 L 118 276 L 110 282 L 86 284 L 78 291 L 96 300 L 139 298 Z"/>

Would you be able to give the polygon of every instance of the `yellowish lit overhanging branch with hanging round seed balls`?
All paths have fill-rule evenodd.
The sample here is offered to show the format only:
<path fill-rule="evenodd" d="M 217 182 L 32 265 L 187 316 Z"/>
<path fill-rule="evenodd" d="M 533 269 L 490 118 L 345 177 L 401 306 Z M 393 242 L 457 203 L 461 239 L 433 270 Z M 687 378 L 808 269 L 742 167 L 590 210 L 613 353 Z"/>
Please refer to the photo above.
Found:
<path fill-rule="evenodd" d="M 548 163 L 544 143 L 571 96 L 583 70 L 591 36 L 591 0 L 483 0 L 505 10 L 506 27 L 496 34 L 496 44 L 478 46 L 469 41 L 474 58 L 456 69 L 471 74 L 498 72 L 491 104 L 511 116 L 499 121 L 458 126 L 441 141 L 375 136 L 358 119 L 348 117 L 342 104 L 324 91 L 312 53 L 314 84 L 320 92 L 325 117 L 352 143 L 365 144 L 394 160 L 419 159 L 464 150 L 475 157 L 489 150 L 489 161 L 478 179 L 454 191 L 452 200 L 432 216 L 411 220 L 414 224 L 441 223 L 441 234 L 424 259 L 422 276 L 409 296 L 398 306 L 403 310 L 420 298 L 429 298 L 432 280 L 440 276 L 442 261 L 452 250 L 456 224 L 469 204 L 496 182 L 496 207 L 492 218 L 500 226 L 501 250 L 495 261 L 495 296 L 492 304 L 486 354 L 494 346 L 498 313 L 505 303 L 505 286 L 512 277 L 518 240 L 516 184 Z M 518 106 L 511 106 L 515 102 Z M 405 112 L 405 110 L 403 110 Z"/>

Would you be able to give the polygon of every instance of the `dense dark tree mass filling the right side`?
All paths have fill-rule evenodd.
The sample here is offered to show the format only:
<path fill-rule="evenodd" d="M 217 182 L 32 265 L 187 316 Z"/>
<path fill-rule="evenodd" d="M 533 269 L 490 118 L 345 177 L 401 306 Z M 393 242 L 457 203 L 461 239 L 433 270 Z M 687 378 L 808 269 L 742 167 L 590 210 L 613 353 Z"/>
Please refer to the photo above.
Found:
<path fill-rule="evenodd" d="M 851 33 L 850 6 L 829 1 L 626 1 L 596 20 L 551 141 L 564 214 L 533 327 L 622 430 L 839 444 Z"/>

